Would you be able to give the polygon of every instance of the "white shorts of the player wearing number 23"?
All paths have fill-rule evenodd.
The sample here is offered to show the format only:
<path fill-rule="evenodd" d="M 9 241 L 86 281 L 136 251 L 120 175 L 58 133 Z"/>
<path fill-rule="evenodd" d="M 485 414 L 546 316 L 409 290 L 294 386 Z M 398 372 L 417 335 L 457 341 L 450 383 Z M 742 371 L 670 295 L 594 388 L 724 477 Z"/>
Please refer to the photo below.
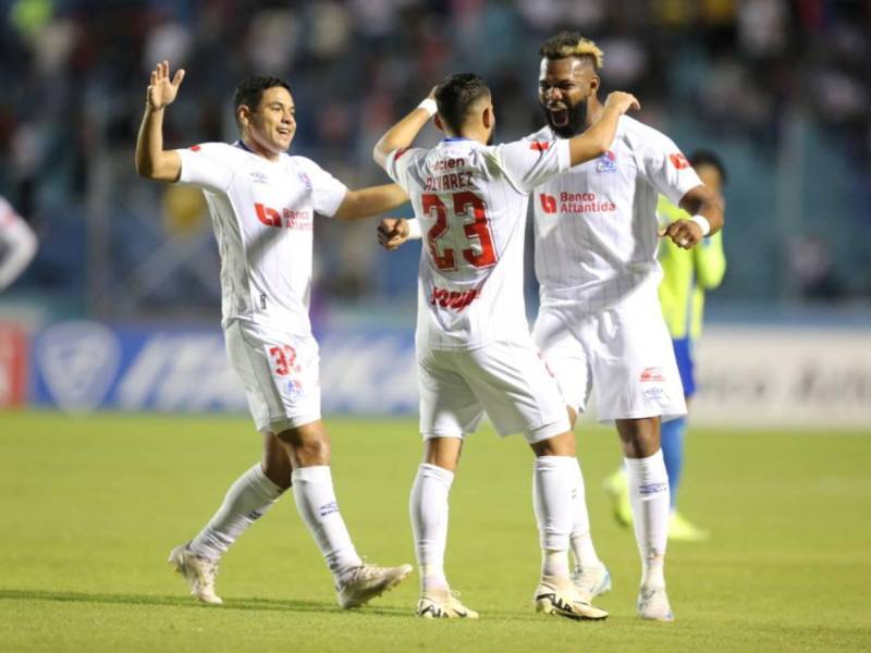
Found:
<path fill-rule="evenodd" d="M 500 435 L 536 443 L 571 430 L 566 403 L 541 355 L 526 343 L 418 350 L 424 439 L 474 433 L 484 410 Z"/>

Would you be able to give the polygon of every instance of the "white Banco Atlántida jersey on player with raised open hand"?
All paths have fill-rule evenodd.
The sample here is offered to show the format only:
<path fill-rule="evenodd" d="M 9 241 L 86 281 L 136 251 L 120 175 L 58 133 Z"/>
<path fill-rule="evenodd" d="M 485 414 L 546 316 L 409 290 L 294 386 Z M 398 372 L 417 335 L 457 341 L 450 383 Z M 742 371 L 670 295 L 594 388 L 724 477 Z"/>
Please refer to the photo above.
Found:
<path fill-rule="evenodd" d="M 179 182 L 203 189 L 221 255 L 221 323 L 311 333 L 315 212 L 333 215 L 347 187 L 305 157 L 269 161 L 244 144 L 177 150 Z"/>

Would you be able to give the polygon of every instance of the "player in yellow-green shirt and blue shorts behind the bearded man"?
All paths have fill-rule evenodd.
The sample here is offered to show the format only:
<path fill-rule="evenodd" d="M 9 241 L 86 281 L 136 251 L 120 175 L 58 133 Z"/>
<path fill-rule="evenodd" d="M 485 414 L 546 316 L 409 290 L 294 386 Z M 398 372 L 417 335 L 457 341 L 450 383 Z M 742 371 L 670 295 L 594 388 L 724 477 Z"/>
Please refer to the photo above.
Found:
<path fill-rule="evenodd" d="M 708 150 L 699 150 L 689 157 L 689 162 L 699 178 L 717 195 L 726 183 L 726 170 L 720 158 Z M 657 213 L 660 226 L 665 229 L 675 220 L 687 218 L 687 213 L 660 196 Z M 723 232 L 720 231 L 687 251 L 665 239 L 660 245 L 660 264 L 663 278 L 660 283 L 660 301 L 665 323 L 672 336 L 672 347 L 680 372 L 684 397 L 689 399 L 696 393 L 694 364 L 695 345 L 701 336 L 704 293 L 716 288 L 726 272 L 726 257 L 723 251 Z M 699 528 L 677 510 L 677 490 L 684 468 L 684 439 L 687 418 L 678 417 L 662 424 L 662 456 L 668 472 L 671 490 L 671 512 L 668 517 L 668 539 L 684 542 L 701 542 L 709 538 L 707 530 Z M 623 525 L 633 522 L 629 489 L 623 468 L 605 480 L 605 489 L 614 501 L 614 515 Z"/>

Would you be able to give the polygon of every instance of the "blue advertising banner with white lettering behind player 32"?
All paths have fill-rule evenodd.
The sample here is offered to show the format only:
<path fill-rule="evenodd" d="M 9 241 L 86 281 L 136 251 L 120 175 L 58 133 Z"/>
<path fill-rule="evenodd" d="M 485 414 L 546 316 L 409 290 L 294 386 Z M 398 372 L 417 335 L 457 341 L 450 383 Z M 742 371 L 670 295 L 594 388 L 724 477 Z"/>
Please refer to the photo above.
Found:
<path fill-rule="evenodd" d="M 410 331 L 326 331 L 324 412 L 414 414 Z M 218 329 L 59 322 L 33 336 L 30 404 L 71 412 L 247 411 Z"/>

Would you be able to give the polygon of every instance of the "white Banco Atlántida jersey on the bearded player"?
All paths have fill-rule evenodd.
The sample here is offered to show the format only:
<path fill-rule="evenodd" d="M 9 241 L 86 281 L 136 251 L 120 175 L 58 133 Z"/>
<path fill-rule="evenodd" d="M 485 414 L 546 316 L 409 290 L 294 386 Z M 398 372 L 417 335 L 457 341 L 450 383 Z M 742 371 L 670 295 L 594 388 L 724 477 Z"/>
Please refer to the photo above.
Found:
<path fill-rule="evenodd" d="M 549 126 L 527 136 L 550 141 Z M 657 198 L 677 205 L 701 180 L 671 138 L 622 116 L 611 149 L 536 188 L 536 276 L 542 305 L 605 310 L 662 276 Z"/>

